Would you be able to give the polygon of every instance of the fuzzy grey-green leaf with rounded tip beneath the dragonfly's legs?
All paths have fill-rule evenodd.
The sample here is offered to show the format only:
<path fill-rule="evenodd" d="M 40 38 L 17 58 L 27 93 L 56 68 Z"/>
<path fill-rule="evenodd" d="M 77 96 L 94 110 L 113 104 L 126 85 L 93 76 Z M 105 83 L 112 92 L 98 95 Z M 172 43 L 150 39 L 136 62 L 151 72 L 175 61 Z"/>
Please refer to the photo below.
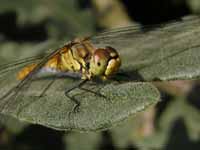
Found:
<path fill-rule="evenodd" d="M 58 130 L 88 131 L 109 128 L 160 99 L 157 89 L 148 83 L 101 85 L 99 92 L 105 98 L 85 91 L 72 91 L 70 95 L 80 101 L 79 111 L 74 112 L 74 101 L 64 95 L 65 81 L 67 79 L 57 81 L 41 97 L 38 96 L 41 84 L 36 87 L 36 83 L 32 83 L 35 88 L 29 87 L 31 90 L 15 102 L 10 101 L 2 113 Z"/>

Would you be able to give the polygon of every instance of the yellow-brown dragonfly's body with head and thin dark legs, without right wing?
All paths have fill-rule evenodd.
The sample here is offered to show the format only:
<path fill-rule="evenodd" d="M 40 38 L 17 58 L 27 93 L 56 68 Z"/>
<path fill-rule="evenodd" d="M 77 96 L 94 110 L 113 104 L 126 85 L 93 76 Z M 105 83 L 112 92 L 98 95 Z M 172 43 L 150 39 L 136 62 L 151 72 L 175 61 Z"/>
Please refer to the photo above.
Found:
<path fill-rule="evenodd" d="M 35 58 L 31 58 L 30 61 L 32 61 L 32 59 L 34 60 Z M 30 63 L 29 59 L 27 59 L 26 62 Z M 21 61 L 18 63 L 22 64 Z M 13 67 L 13 65 L 11 65 L 11 67 Z M 81 85 L 95 77 L 107 80 L 118 71 L 120 65 L 120 56 L 117 50 L 113 47 L 107 46 L 105 48 L 97 48 L 87 37 L 76 38 L 61 48 L 56 49 L 53 53 L 42 58 L 40 62 L 30 63 L 19 70 L 16 74 L 16 78 L 20 81 L 20 83 L 5 93 L 0 99 L 6 99 L 12 94 L 14 96 L 11 96 L 12 99 L 16 99 L 18 94 L 23 91 L 22 88 L 26 87 L 27 83 L 31 82 L 31 79 L 33 79 L 36 74 L 41 72 L 57 74 L 71 72 L 78 74 L 82 79 L 82 81 L 78 84 L 78 87 L 81 87 Z M 4 68 L 5 67 L 6 66 L 4 66 Z M 2 71 L 4 71 L 4 69 L 2 69 Z M 47 87 L 49 87 L 52 83 L 53 82 L 47 84 Z M 75 88 L 77 88 L 77 86 L 65 91 L 65 95 L 68 96 L 68 93 Z M 40 96 L 42 96 L 46 90 L 44 90 Z M 74 98 L 71 99 L 74 100 L 76 103 L 75 107 L 77 108 L 80 105 L 79 102 Z"/>

